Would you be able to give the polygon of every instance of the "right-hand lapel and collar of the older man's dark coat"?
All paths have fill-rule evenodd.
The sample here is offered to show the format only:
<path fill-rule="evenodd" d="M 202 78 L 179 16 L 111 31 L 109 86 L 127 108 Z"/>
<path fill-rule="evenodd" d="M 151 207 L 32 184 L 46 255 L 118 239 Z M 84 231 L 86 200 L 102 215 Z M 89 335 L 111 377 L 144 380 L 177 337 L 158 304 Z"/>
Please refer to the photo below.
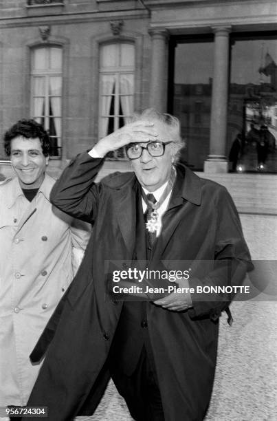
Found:
<path fill-rule="evenodd" d="M 201 179 L 187 167 L 179 165 L 168 209 L 162 218 L 162 233 L 154 250 L 156 257 L 162 256 L 181 219 L 186 217 L 188 203 L 201 204 Z"/>

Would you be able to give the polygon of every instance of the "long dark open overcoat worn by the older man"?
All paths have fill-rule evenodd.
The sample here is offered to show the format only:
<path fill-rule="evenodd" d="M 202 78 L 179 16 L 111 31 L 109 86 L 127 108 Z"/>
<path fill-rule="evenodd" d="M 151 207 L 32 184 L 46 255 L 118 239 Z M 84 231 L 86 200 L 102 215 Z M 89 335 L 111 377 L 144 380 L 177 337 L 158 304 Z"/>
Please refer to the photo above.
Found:
<path fill-rule="evenodd" d="M 94 184 L 102 161 L 78 155 L 52 190 L 52 202 L 91 222 L 93 233 L 76 278 L 32 354 L 38 360 L 48 347 L 28 404 L 48 406 L 49 421 L 92 413 L 109 379 L 106 360 L 122 303 L 107 297 L 104 261 L 132 259 L 137 179 L 134 173 L 114 173 Z M 151 267 L 160 261 L 169 269 L 190 262 L 199 276 L 190 279 L 191 286 L 240 284 L 251 264 L 226 189 L 184 166 L 177 169 Z M 232 294 L 208 301 L 192 296 L 193 307 L 186 312 L 148 305 L 166 421 L 203 419 L 212 392 L 219 316 L 230 299 Z"/>

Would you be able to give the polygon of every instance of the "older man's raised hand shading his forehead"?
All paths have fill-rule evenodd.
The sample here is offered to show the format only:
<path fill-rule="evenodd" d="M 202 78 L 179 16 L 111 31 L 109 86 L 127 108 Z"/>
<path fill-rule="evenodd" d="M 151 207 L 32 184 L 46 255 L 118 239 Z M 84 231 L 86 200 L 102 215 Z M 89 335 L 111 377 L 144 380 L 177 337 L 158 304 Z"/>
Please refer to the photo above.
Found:
<path fill-rule="evenodd" d="M 154 124 L 148 121 L 136 121 L 115 130 L 109 136 L 102 138 L 94 149 L 99 155 L 106 155 L 108 152 L 126 146 L 132 142 L 148 142 L 157 139 L 157 131 Z"/>

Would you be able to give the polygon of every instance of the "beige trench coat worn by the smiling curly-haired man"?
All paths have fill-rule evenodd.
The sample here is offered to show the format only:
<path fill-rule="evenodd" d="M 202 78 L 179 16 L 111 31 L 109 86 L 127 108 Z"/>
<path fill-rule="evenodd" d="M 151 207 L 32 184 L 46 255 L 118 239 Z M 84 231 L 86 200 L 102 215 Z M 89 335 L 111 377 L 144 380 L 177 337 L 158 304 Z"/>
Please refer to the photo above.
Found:
<path fill-rule="evenodd" d="M 30 352 L 74 276 L 73 247 L 80 259 L 89 239 L 50 204 L 53 184 L 45 175 L 32 202 L 17 178 L 0 184 L 0 406 L 26 404 L 39 369 Z"/>

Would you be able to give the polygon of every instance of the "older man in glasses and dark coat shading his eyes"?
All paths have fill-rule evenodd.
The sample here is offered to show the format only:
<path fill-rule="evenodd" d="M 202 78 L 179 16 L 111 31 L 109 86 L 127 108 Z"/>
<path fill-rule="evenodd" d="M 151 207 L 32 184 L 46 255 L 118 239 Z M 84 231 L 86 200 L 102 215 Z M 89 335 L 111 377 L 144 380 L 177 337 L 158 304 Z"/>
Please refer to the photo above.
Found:
<path fill-rule="evenodd" d="M 95 184 L 104 156 L 120 147 L 133 172 Z M 93 236 L 32 353 L 39 360 L 51 343 L 28 403 L 48 407 L 49 421 L 93 413 L 110 376 L 135 420 L 205 416 L 219 316 L 233 294 L 207 301 L 190 288 L 239 285 L 251 263 L 230 195 L 175 164 L 180 147 L 177 118 L 148 109 L 78 155 L 53 188 L 52 202 L 91 222 Z M 119 267 L 133 287 L 122 289 L 125 301 L 111 285 Z M 149 279 L 150 269 L 161 277 Z"/>

